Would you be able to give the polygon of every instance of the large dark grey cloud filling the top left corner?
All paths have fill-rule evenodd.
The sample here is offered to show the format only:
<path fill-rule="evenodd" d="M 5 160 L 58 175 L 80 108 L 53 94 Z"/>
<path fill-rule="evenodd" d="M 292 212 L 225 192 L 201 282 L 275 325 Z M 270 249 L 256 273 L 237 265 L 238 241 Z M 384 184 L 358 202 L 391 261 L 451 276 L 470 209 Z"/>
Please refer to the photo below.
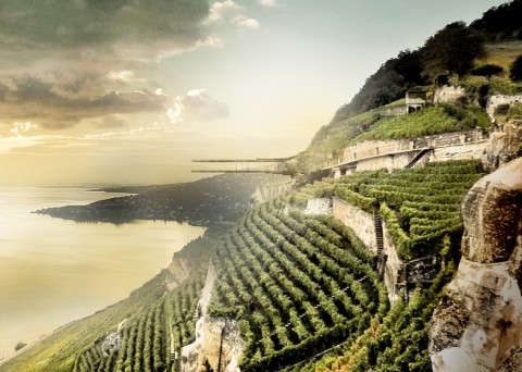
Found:
<path fill-rule="evenodd" d="M 0 11 L 4 55 L 17 49 L 151 58 L 201 39 L 209 5 L 206 0 L 5 0 Z"/>

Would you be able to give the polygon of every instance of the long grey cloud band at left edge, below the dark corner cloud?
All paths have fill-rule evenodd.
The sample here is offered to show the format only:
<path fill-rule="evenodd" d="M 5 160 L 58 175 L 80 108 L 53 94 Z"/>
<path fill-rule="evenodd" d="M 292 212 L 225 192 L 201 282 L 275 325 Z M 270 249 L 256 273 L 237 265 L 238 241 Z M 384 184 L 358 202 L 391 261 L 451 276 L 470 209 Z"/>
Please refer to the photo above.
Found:
<path fill-rule="evenodd" d="M 2 121 L 30 121 L 47 129 L 62 129 L 82 119 L 144 111 L 161 111 L 166 97 L 147 89 L 105 90 L 96 76 L 69 78 L 49 74 L 45 78 L 0 78 Z"/>

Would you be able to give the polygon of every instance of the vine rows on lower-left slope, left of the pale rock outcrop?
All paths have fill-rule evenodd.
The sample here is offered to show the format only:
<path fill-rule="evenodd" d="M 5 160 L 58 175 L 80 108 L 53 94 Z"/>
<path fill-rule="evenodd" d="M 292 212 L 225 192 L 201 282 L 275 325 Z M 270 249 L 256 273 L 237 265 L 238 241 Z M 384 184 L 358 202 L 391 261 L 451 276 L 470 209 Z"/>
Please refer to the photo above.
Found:
<path fill-rule="evenodd" d="M 84 350 L 73 371 L 176 371 L 172 357 L 194 340 L 203 282 L 200 272 L 144 306 L 122 321 L 119 330 Z"/>

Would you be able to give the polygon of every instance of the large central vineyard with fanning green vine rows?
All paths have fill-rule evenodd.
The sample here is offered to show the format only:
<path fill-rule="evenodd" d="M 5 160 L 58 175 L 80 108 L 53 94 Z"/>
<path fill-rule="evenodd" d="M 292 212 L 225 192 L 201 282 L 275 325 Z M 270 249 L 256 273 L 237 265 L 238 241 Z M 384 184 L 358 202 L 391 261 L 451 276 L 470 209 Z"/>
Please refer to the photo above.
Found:
<path fill-rule="evenodd" d="M 283 208 L 254 208 L 216 249 L 210 312 L 239 320 L 244 371 L 275 371 L 349 343 L 388 309 L 374 258 L 351 231 Z"/>

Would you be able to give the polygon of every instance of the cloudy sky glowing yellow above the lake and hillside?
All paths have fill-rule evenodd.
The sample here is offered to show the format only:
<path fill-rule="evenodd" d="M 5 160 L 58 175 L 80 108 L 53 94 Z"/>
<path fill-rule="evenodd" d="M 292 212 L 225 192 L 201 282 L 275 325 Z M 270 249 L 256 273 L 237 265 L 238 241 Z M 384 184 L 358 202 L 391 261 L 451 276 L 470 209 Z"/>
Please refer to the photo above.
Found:
<path fill-rule="evenodd" d="M 387 59 L 496 0 L 0 0 L 0 185 L 289 157 Z"/>

